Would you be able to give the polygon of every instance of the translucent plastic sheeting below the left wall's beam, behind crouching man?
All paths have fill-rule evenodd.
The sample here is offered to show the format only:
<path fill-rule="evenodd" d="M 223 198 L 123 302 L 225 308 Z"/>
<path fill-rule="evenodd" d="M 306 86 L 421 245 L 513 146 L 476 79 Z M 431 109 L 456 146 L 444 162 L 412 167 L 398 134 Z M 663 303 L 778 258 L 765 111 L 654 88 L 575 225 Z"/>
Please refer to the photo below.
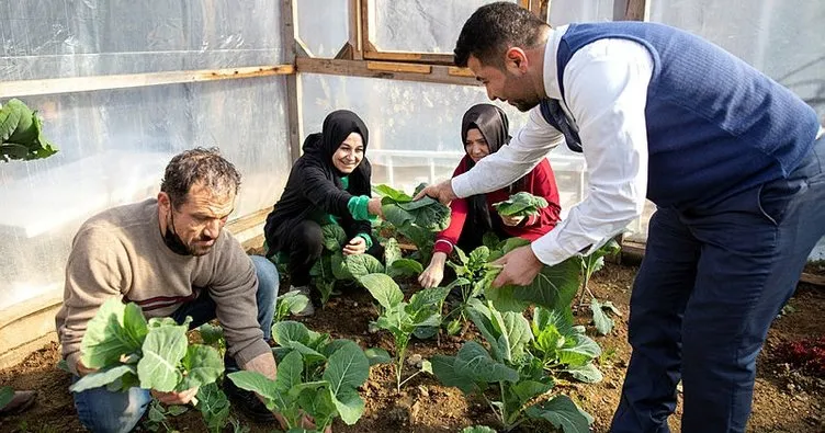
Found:
<path fill-rule="evenodd" d="M 61 289 L 80 224 L 157 195 L 184 149 L 217 146 L 241 172 L 230 219 L 271 206 L 292 161 L 284 88 L 267 77 L 24 98 L 60 151 L 0 166 L 0 309 Z"/>

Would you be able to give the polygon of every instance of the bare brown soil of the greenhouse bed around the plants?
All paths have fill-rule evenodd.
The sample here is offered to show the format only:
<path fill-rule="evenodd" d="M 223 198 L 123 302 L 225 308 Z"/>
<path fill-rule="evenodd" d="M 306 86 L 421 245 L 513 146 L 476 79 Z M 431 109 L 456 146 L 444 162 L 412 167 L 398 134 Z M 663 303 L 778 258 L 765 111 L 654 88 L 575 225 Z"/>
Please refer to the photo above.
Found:
<path fill-rule="evenodd" d="M 630 358 L 626 343 L 626 314 L 630 287 L 636 267 L 608 264 L 597 273 L 591 288 L 599 299 L 613 301 L 622 311 L 617 327 L 608 337 L 596 337 L 604 355 L 599 367 L 604 373 L 600 384 L 561 383 L 558 389 L 596 418 L 595 432 L 606 432 L 619 401 L 624 368 Z M 787 341 L 823 335 L 825 332 L 825 289 L 800 285 L 788 310 L 773 322 L 766 350 L 758 358 L 754 410 L 748 425 L 757 433 L 825 432 L 825 378 L 810 377 L 793 372 L 787 364 L 777 362 L 777 347 Z M 364 347 L 393 349 L 392 338 L 385 332 L 370 333 L 368 323 L 376 317 L 369 294 L 351 290 L 332 298 L 324 308 L 304 322 L 313 330 L 328 332 L 334 338 L 347 338 Z M 578 320 L 588 321 L 583 311 Z M 471 330 L 464 338 L 477 338 Z M 417 341 L 408 354 L 425 358 L 436 353 L 454 353 L 463 339 L 441 338 L 439 341 Z M 68 374 L 56 369 L 57 346 L 47 345 L 32 353 L 20 365 L 0 372 L 0 385 L 15 389 L 36 389 L 39 392 L 34 408 L 21 415 L 0 418 L 0 432 L 71 432 L 80 431 L 71 396 L 68 394 Z M 408 374 L 408 373 L 407 373 Z M 336 432 L 455 432 L 473 424 L 496 425 L 488 408 L 481 401 L 466 399 L 455 388 L 445 388 L 427 375 L 419 375 L 395 390 L 395 376 L 387 365 L 374 366 L 368 383 L 361 388 L 366 402 L 363 418 L 353 426 L 337 422 Z M 670 419 L 673 431 L 680 431 L 677 408 Z M 242 418 L 239 415 L 239 418 Z M 252 432 L 272 431 L 272 425 L 256 425 L 245 420 Z M 171 421 L 180 431 L 204 431 L 200 414 L 190 410 Z M 545 431 L 546 425 L 524 426 L 527 431 Z"/>

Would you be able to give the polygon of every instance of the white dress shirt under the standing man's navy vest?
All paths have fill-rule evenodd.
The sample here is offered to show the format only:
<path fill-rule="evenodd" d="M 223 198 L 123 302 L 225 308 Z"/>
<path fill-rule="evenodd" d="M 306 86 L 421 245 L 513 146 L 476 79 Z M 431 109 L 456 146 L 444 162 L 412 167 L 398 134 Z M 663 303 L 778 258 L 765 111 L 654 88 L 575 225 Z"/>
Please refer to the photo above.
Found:
<path fill-rule="evenodd" d="M 544 52 L 544 90 L 556 100 L 562 100 L 556 49 L 566 31 L 567 26 L 551 30 Z M 647 49 L 620 38 L 588 44 L 567 62 L 561 105 L 578 127 L 590 182 L 587 198 L 532 243 L 544 264 L 579 252 L 589 254 L 642 215 L 647 193 L 644 110 L 652 72 Z M 509 185 L 562 143 L 562 133 L 544 121 L 536 106 L 508 146 L 452 180 L 453 191 L 468 197 Z"/>

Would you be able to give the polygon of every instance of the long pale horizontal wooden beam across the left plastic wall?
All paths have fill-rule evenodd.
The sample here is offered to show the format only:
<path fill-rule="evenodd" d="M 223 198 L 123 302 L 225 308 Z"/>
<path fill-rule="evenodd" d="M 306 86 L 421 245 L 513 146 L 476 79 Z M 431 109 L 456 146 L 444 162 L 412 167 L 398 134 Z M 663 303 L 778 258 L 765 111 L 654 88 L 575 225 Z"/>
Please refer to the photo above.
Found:
<path fill-rule="evenodd" d="M 247 68 L 180 70 L 169 72 L 127 73 L 117 76 L 49 78 L 44 80 L 0 81 L 0 98 L 33 96 L 129 89 L 185 82 L 237 80 L 295 73 L 293 65 L 267 65 Z"/>

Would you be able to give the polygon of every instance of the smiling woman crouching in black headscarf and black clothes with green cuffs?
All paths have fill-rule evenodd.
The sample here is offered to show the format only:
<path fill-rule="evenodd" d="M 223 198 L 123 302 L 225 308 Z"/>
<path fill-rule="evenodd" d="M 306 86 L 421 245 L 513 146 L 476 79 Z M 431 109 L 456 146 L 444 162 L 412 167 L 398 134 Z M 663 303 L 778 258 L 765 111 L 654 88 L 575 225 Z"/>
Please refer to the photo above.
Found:
<path fill-rule="evenodd" d="M 324 249 L 321 226 L 343 228 L 350 239 L 344 254 L 380 248 L 370 224 L 370 215 L 381 214 L 381 198 L 371 198 L 368 141 L 366 125 L 347 110 L 330 113 L 321 133 L 304 140 L 304 155 L 292 166 L 281 200 L 263 228 L 268 255 L 289 255 L 290 290 L 309 294 L 309 270 Z M 302 315 L 313 312 L 308 304 Z"/>

